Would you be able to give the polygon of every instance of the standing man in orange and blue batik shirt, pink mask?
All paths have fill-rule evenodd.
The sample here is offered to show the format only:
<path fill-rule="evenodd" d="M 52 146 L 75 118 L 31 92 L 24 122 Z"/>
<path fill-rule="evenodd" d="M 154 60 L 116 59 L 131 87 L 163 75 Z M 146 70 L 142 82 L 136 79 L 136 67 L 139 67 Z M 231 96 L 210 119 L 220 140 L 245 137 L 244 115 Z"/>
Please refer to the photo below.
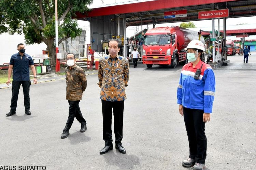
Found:
<path fill-rule="evenodd" d="M 115 148 L 126 153 L 121 141 L 123 139 L 124 101 L 126 99 L 125 87 L 129 80 L 129 62 L 127 58 L 119 56 L 121 43 L 111 39 L 108 43 L 109 55 L 100 58 L 97 83 L 101 89 L 100 99 L 103 116 L 103 140 L 105 146 L 100 154 L 113 149 L 112 144 L 112 109 L 114 115 Z"/>

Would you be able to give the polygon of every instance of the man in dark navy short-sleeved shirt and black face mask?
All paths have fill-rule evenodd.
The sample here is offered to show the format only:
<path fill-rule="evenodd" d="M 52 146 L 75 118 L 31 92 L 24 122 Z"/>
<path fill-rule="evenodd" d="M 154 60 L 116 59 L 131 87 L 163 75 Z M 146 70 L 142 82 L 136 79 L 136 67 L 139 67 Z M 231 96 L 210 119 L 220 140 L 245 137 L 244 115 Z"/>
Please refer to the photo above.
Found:
<path fill-rule="evenodd" d="M 11 81 L 11 75 L 13 73 L 12 81 L 12 99 L 11 99 L 11 109 L 6 116 L 12 116 L 16 114 L 17 102 L 20 85 L 22 85 L 23 95 L 24 95 L 24 107 L 25 114 L 31 115 L 30 112 L 30 97 L 29 89 L 31 81 L 29 78 L 29 66 L 31 67 L 32 73 L 34 75 L 34 84 L 37 84 L 37 73 L 35 71 L 34 61 L 32 57 L 25 53 L 25 46 L 22 43 L 17 45 L 17 50 L 19 51 L 16 54 L 13 54 L 10 59 L 9 68 L 8 68 L 8 80 L 6 84 L 9 86 Z"/>

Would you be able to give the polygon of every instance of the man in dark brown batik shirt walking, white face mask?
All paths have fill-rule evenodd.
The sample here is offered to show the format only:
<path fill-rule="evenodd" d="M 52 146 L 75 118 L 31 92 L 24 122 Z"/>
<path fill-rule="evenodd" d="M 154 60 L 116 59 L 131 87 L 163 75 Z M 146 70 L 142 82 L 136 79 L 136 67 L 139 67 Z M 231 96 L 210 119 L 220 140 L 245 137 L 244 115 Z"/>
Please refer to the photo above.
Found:
<path fill-rule="evenodd" d="M 86 89 L 87 80 L 85 71 L 76 65 L 75 55 L 68 53 L 66 56 L 66 99 L 69 103 L 69 116 L 61 138 L 66 138 L 69 135 L 69 129 L 76 118 L 81 123 L 80 132 L 85 132 L 87 129 L 86 121 L 79 108 L 79 102 L 82 100 L 82 94 Z"/>

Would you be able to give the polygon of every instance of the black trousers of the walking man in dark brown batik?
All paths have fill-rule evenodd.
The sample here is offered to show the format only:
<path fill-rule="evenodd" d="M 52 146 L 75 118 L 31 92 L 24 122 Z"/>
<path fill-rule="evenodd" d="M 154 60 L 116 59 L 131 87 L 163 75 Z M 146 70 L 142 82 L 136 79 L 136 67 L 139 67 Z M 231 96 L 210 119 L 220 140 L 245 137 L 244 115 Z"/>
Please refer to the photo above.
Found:
<path fill-rule="evenodd" d="M 65 126 L 64 130 L 69 130 L 71 128 L 75 118 L 82 125 L 86 124 L 86 121 L 83 118 L 83 115 L 82 115 L 82 113 L 80 111 L 80 107 L 78 105 L 79 102 L 80 102 L 80 100 L 77 100 L 77 101 L 68 100 L 68 103 L 69 103 L 69 116 L 68 116 L 68 120 L 67 120 L 67 123 L 66 123 L 66 126 Z"/>

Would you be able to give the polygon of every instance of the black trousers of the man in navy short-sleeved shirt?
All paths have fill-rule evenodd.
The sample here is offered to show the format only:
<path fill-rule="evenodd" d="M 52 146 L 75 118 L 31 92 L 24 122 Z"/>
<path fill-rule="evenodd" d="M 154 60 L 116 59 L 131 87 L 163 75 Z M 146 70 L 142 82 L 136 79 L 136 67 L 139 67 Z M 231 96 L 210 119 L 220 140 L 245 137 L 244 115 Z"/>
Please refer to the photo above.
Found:
<path fill-rule="evenodd" d="M 22 85 L 23 95 L 24 95 L 24 107 L 25 111 L 30 110 L 30 98 L 29 98 L 29 87 L 31 85 L 31 81 L 12 81 L 12 99 L 11 99 L 11 112 L 16 112 L 19 89 L 20 85 Z"/>

